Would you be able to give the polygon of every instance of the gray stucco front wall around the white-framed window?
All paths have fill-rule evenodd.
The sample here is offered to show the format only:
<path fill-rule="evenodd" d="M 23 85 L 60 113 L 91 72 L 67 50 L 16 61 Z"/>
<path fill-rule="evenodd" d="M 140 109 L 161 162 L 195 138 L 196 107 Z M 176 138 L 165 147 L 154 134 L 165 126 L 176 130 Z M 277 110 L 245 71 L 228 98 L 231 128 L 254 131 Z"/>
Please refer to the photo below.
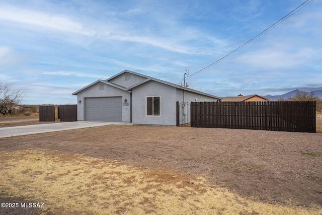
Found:
<path fill-rule="evenodd" d="M 160 96 L 160 116 L 146 116 L 146 96 Z M 176 88 L 148 81 L 132 89 L 134 124 L 176 125 Z"/>

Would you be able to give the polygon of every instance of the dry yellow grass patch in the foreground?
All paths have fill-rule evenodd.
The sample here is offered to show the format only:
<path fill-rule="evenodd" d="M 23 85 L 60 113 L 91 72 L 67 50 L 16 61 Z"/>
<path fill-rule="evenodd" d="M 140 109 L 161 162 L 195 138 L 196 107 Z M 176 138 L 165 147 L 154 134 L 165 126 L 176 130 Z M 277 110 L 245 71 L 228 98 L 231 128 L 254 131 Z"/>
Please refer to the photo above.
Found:
<path fill-rule="evenodd" d="M 50 151 L 0 155 L 0 193 L 44 202 L 55 214 L 321 214 L 322 209 L 264 204 L 202 176 L 144 169 Z"/>

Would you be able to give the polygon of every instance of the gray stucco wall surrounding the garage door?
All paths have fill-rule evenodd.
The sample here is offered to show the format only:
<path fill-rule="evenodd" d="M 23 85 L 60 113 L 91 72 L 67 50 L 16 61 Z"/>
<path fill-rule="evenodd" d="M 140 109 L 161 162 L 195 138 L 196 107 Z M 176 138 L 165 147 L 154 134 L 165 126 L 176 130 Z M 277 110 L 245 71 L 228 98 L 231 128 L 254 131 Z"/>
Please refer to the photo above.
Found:
<path fill-rule="evenodd" d="M 131 121 L 131 115 L 130 115 L 131 93 L 125 90 L 110 86 L 108 84 L 104 84 L 104 90 L 100 90 L 99 89 L 100 84 L 102 83 L 98 82 L 77 93 L 77 120 L 83 121 L 85 119 L 84 117 L 85 99 L 84 98 L 122 96 L 122 101 L 126 99 L 127 103 L 129 103 L 129 105 L 122 105 L 122 122 L 130 122 Z M 81 100 L 81 103 L 79 103 L 79 100 Z"/>

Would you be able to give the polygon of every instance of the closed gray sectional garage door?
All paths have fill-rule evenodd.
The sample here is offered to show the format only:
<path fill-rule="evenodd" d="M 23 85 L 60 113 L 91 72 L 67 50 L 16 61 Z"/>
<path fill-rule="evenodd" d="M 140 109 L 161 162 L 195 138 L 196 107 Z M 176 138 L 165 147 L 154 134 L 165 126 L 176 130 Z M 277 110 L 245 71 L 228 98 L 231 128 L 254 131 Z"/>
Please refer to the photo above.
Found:
<path fill-rule="evenodd" d="M 122 122 L 122 97 L 85 98 L 85 121 Z"/>

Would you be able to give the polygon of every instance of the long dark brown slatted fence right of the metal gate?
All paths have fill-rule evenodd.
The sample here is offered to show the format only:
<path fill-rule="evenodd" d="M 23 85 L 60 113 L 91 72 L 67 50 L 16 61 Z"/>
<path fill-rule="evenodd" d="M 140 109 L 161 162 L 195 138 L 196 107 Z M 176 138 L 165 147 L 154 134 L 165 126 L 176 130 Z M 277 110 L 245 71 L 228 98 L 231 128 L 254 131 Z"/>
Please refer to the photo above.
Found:
<path fill-rule="evenodd" d="M 316 132 L 315 101 L 191 102 L 191 127 Z"/>

